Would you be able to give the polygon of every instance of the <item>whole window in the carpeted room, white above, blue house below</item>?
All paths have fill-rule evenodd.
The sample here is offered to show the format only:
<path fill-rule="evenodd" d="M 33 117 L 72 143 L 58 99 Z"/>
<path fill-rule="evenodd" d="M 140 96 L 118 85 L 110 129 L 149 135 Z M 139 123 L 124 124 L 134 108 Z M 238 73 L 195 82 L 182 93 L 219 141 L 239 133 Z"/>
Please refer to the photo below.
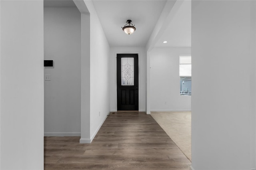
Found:
<path fill-rule="evenodd" d="M 180 95 L 191 96 L 191 55 L 180 55 Z"/>

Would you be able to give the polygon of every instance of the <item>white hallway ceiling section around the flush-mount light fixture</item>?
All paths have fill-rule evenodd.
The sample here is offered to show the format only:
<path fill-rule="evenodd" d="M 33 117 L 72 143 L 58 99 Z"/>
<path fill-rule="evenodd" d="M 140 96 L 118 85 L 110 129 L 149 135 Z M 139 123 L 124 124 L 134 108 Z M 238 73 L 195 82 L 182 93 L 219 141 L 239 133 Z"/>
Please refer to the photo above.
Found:
<path fill-rule="evenodd" d="M 166 0 L 94 0 L 93 4 L 111 47 L 145 47 Z M 135 24 L 131 35 L 121 28 L 126 20 Z"/>

